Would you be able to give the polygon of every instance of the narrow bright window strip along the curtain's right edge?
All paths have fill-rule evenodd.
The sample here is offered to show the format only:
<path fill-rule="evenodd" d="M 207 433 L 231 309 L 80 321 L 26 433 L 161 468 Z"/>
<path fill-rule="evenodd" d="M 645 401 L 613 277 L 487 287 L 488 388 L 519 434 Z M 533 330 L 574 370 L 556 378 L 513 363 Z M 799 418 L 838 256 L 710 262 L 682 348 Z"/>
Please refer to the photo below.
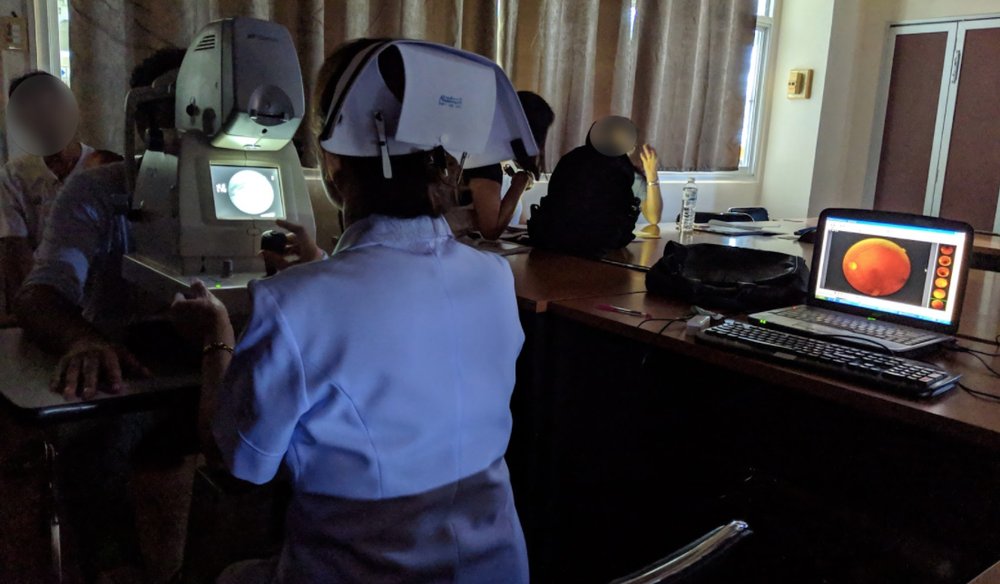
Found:
<path fill-rule="evenodd" d="M 747 97 L 743 106 L 743 130 L 740 132 L 740 170 L 753 174 L 761 150 L 760 134 L 764 125 L 764 97 L 768 54 L 774 27 L 774 1 L 757 0 L 757 30 L 750 53 L 750 73 L 747 76 Z"/>

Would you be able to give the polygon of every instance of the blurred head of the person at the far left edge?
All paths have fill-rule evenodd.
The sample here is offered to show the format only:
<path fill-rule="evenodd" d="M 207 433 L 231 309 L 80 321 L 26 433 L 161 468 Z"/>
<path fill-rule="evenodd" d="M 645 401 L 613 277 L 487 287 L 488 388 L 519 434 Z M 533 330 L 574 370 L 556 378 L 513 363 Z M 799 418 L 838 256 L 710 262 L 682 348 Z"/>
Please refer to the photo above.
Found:
<path fill-rule="evenodd" d="M 80 110 L 58 77 L 31 71 L 11 81 L 7 126 L 12 141 L 29 154 L 51 157 L 74 143 Z"/>

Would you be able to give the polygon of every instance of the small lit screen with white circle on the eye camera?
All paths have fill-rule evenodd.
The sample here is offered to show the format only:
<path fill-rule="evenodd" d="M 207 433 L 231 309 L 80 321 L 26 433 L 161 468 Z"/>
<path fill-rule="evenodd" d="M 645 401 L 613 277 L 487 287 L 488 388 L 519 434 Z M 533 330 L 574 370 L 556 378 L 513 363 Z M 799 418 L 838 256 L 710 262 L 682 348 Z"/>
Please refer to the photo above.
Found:
<path fill-rule="evenodd" d="M 215 218 L 284 219 L 278 169 L 266 166 L 210 165 Z"/>

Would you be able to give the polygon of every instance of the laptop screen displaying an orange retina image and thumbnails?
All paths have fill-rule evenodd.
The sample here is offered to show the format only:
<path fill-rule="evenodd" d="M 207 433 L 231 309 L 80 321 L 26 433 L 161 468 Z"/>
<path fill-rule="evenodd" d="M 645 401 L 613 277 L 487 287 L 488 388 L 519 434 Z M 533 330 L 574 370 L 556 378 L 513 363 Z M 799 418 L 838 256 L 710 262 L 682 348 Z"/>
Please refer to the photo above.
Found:
<path fill-rule="evenodd" d="M 957 325 L 966 231 L 836 215 L 821 229 L 816 300 Z"/>

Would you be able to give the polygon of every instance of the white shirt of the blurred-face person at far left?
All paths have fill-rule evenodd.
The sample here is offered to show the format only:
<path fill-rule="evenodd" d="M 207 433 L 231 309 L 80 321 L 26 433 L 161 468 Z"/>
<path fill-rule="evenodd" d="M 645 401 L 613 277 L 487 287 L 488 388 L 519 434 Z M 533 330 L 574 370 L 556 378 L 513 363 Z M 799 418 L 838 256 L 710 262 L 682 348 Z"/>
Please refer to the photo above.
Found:
<path fill-rule="evenodd" d="M 79 172 L 93 152 L 81 144 L 80 159 L 67 178 Z M 0 237 L 23 237 L 31 249 L 37 249 L 62 185 L 39 156 L 22 156 L 4 165 L 0 172 Z"/>

